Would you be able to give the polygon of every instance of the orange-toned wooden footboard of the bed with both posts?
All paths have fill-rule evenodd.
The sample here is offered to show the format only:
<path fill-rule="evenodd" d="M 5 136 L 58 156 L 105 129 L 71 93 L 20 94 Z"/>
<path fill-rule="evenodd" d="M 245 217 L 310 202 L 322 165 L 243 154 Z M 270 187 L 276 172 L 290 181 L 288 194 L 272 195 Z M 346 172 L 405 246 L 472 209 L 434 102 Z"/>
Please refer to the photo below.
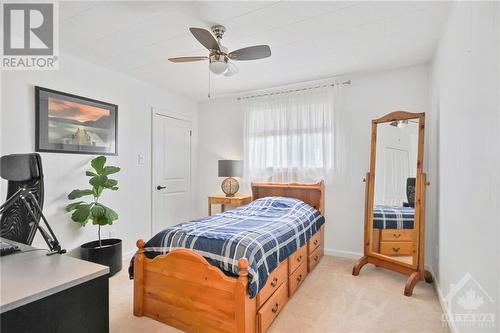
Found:
<path fill-rule="evenodd" d="M 148 259 L 137 241 L 134 315 L 187 332 L 255 332 L 256 303 L 247 294 L 248 260 L 231 278 L 189 249 Z"/>

